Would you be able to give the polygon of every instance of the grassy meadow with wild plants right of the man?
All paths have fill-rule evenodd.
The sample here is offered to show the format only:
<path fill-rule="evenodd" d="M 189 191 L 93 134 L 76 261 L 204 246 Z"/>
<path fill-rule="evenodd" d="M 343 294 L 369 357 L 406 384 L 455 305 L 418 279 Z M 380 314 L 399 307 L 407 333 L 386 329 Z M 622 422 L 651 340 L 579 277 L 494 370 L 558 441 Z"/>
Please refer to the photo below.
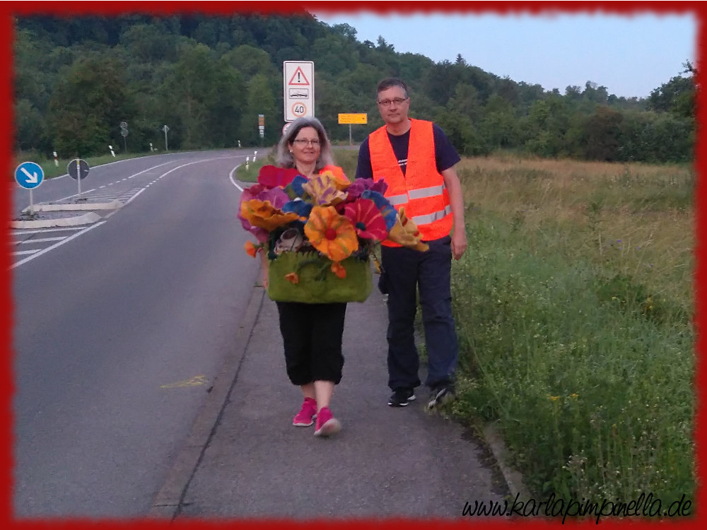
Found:
<path fill-rule="evenodd" d="M 354 175 L 355 153 L 337 159 Z M 694 500 L 694 170 L 496 156 L 457 172 L 450 412 L 493 422 L 534 494 Z"/>

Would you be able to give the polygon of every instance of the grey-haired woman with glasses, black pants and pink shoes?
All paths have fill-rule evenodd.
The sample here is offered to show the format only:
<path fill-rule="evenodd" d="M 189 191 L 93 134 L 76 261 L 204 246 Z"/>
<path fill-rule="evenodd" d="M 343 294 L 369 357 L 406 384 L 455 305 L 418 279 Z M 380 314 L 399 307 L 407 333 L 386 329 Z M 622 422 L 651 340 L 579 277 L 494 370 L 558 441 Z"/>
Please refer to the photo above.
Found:
<path fill-rule="evenodd" d="M 278 145 L 276 165 L 296 168 L 308 179 L 324 170 L 346 178 L 341 168 L 333 165 L 331 143 L 316 118 L 299 118 L 291 123 Z M 267 288 L 268 261 L 265 252 L 261 255 L 263 285 Z M 341 430 L 341 423 L 334 418 L 329 404 L 344 367 L 341 336 L 346 303 L 276 302 L 276 305 L 287 375 L 302 389 L 304 398 L 292 423 L 308 427 L 316 418 L 315 436 L 334 435 Z"/>

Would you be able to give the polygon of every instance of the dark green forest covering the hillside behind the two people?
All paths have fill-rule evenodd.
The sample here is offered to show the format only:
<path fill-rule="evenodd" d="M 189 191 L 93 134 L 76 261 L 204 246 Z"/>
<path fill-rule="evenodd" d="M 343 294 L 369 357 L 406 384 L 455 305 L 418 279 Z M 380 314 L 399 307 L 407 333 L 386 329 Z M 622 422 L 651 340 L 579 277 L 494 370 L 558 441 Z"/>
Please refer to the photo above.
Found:
<path fill-rule="evenodd" d="M 284 125 L 283 61 L 314 61 L 315 115 L 335 143 L 349 143 L 339 113 L 368 114 L 368 124 L 351 127 L 354 142 L 382 125 L 375 86 L 397 76 L 411 88 L 411 116 L 440 124 L 462 155 L 694 158 L 697 88 L 689 61 L 648 98 L 619 98 L 592 81 L 546 91 L 479 69 L 460 54 L 436 63 L 399 53 L 383 35 L 360 42 L 351 25 L 329 26 L 308 13 L 13 22 L 18 155 L 97 155 L 109 145 L 132 153 L 151 144 L 160 151 L 271 146 Z"/>

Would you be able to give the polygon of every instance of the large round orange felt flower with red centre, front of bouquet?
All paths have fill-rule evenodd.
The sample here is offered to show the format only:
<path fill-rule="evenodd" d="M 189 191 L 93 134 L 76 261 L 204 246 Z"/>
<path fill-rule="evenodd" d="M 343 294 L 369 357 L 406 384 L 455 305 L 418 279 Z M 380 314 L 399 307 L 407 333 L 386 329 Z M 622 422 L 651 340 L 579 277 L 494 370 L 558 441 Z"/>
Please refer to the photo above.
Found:
<path fill-rule="evenodd" d="M 315 206 L 305 225 L 305 235 L 319 252 L 332 261 L 344 261 L 358 250 L 356 229 L 333 206 Z"/>

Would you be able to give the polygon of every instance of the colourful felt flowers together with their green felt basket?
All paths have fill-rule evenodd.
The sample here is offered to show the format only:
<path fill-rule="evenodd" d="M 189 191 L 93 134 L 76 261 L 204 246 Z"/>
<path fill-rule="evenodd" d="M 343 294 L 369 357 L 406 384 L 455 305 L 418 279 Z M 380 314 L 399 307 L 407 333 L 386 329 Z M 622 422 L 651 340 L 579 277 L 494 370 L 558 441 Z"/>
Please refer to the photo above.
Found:
<path fill-rule="evenodd" d="M 338 168 L 311 179 L 295 169 L 262 167 L 245 189 L 238 218 L 267 252 L 268 295 L 282 302 L 363 302 L 371 290 L 368 259 L 390 238 L 424 251 L 416 226 L 383 194 L 385 181 L 349 182 Z"/>

